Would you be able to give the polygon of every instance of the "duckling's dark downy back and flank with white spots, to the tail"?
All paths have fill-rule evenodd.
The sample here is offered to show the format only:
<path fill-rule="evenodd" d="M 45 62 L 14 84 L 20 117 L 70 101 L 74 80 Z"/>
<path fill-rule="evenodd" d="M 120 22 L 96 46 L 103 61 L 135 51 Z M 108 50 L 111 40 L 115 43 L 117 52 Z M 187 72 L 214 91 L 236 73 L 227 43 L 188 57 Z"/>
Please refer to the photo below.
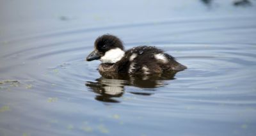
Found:
<path fill-rule="evenodd" d="M 117 66 L 118 72 L 144 75 L 186 69 L 186 66 L 175 61 L 174 57 L 165 54 L 163 50 L 148 46 L 127 50 Z"/>

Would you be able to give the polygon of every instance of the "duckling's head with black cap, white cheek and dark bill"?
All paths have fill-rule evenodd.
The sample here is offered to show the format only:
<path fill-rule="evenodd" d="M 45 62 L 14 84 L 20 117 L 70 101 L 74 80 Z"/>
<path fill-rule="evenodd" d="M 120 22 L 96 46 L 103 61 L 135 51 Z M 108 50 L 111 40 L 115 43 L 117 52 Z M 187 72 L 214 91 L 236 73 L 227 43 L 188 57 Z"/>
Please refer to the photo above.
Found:
<path fill-rule="evenodd" d="M 124 57 L 124 46 L 119 38 L 110 34 L 99 36 L 94 43 L 94 50 L 86 61 L 99 59 L 102 63 L 116 63 Z"/>

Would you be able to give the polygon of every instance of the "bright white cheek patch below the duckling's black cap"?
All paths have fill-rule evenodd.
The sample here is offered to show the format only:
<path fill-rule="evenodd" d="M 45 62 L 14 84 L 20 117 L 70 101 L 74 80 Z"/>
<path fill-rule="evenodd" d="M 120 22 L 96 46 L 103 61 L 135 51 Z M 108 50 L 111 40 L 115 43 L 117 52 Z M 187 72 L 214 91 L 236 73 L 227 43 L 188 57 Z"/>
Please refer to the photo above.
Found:
<path fill-rule="evenodd" d="M 104 56 L 100 57 L 102 63 L 116 63 L 124 57 L 124 50 L 120 48 L 108 50 Z"/>

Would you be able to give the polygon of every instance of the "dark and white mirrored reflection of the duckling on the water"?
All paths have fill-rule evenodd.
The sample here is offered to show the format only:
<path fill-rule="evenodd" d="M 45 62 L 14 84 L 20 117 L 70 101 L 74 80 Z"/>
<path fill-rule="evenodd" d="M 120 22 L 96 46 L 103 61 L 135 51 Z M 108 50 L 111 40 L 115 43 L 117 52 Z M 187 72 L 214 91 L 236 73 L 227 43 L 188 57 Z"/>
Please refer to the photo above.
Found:
<path fill-rule="evenodd" d="M 96 93 L 95 100 L 101 102 L 119 102 L 115 100 L 121 97 L 125 92 L 125 86 L 135 86 L 147 89 L 147 92 L 129 91 L 132 94 L 149 96 L 154 94 L 154 88 L 165 86 L 164 80 L 173 80 L 175 73 L 166 72 L 159 75 L 131 76 L 131 75 L 102 75 L 95 82 L 86 82 L 85 86 Z"/>

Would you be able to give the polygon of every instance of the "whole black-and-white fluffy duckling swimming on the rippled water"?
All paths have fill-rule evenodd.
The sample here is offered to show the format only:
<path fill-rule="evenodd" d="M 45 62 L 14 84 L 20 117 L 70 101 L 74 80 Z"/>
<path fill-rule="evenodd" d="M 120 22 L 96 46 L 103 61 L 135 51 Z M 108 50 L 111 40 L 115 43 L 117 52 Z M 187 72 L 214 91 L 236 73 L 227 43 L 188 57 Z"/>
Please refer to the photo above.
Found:
<path fill-rule="evenodd" d="M 151 75 L 186 69 L 186 66 L 175 61 L 174 57 L 155 47 L 134 47 L 125 52 L 120 39 L 110 34 L 95 40 L 95 50 L 86 60 L 95 59 L 102 61 L 99 66 L 102 75 Z"/>

